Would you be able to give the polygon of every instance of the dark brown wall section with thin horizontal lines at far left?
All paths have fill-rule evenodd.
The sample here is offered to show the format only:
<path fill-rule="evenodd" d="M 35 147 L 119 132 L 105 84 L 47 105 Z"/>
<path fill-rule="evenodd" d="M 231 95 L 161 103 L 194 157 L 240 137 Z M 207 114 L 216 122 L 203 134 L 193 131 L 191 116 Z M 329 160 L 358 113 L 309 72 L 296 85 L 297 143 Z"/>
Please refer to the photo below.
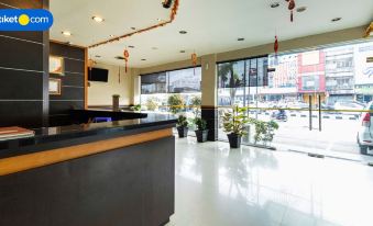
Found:
<path fill-rule="evenodd" d="M 0 0 L 0 9 L 48 9 L 48 0 Z M 0 32 L 0 127 L 47 125 L 48 46 L 48 32 Z"/>

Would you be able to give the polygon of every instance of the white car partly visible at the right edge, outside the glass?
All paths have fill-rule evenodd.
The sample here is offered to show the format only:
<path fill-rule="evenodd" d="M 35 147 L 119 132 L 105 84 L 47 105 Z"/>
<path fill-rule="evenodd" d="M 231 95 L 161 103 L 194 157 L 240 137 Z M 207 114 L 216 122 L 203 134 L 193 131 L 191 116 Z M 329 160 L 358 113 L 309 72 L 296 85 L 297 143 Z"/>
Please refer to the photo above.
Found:
<path fill-rule="evenodd" d="M 373 150 L 373 102 L 370 102 L 365 110 L 369 112 L 361 114 L 361 127 L 358 132 L 358 144 L 363 155 L 366 155 L 367 150 Z"/>

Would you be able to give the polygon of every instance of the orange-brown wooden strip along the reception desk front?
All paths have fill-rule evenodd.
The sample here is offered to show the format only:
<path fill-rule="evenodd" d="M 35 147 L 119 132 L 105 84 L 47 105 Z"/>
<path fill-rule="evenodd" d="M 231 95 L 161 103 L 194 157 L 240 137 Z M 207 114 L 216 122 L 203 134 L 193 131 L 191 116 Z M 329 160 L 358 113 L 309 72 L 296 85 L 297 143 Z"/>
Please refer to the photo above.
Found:
<path fill-rule="evenodd" d="M 172 128 L 0 159 L 0 176 L 173 136 Z"/>

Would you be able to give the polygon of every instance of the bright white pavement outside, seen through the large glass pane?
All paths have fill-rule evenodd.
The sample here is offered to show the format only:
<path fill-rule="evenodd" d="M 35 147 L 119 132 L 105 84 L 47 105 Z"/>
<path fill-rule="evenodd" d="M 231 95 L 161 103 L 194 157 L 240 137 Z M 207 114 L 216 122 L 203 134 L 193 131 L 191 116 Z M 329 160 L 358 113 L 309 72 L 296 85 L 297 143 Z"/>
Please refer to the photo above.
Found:
<path fill-rule="evenodd" d="M 322 114 L 321 132 L 319 131 L 318 115 L 312 117 L 312 131 L 309 131 L 308 112 L 287 113 L 287 122 L 277 122 L 278 131 L 275 133 L 272 146 L 295 151 L 322 152 L 339 151 L 359 155 L 356 133 L 360 118 L 343 114 Z M 290 116 L 292 115 L 292 116 Z M 251 114 L 255 117 L 255 114 Z M 270 121 L 270 114 L 264 112 L 257 115 L 259 120 Z M 226 133 L 219 129 L 219 139 L 227 140 Z"/>

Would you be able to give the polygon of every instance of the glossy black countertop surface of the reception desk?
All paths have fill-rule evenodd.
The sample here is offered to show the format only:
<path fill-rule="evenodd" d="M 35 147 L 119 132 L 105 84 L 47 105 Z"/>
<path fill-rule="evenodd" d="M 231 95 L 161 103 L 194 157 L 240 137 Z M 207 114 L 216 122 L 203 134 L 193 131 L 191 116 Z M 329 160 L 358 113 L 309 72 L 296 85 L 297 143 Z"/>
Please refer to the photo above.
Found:
<path fill-rule="evenodd" d="M 96 110 L 89 110 L 88 113 L 91 114 L 92 111 L 102 113 L 102 111 Z M 84 113 L 84 111 L 80 113 Z M 109 113 L 113 114 L 112 111 L 109 111 Z M 176 117 L 171 114 L 144 114 L 135 112 L 124 112 L 123 114 L 130 114 L 131 117 L 133 117 L 134 114 L 138 114 L 140 118 L 36 128 L 33 129 L 35 132 L 35 136 L 33 137 L 0 142 L 0 159 L 108 139 L 117 136 L 173 127 L 177 121 Z"/>

